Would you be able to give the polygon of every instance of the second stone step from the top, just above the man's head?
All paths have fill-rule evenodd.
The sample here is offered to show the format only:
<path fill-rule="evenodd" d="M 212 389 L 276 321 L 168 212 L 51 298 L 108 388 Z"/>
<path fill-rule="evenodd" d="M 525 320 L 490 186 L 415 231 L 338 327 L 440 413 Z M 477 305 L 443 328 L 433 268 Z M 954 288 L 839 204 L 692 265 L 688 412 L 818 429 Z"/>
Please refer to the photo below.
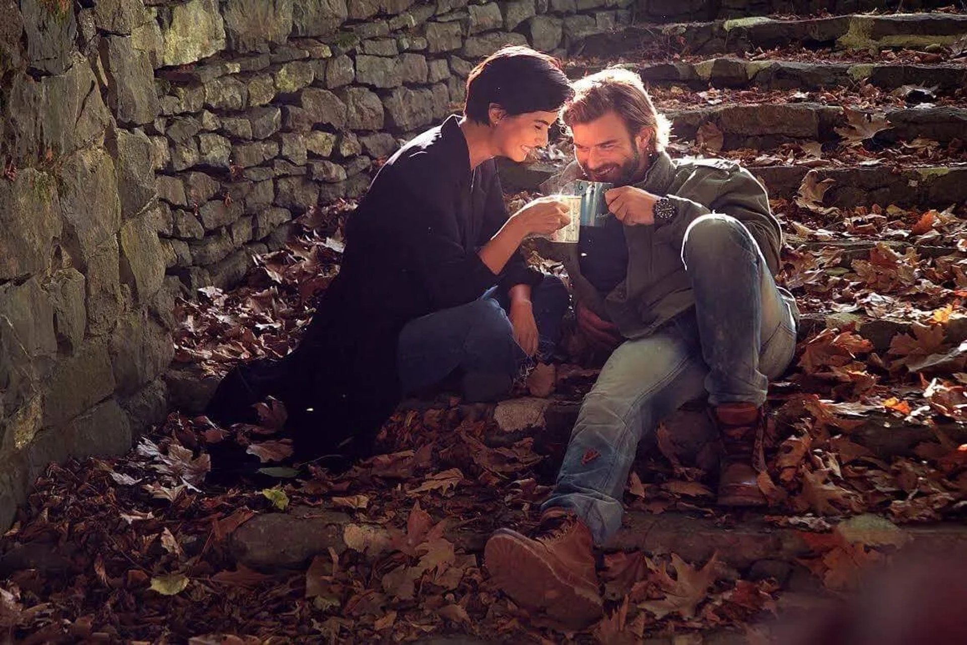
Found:
<path fill-rule="evenodd" d="M 621 63 L 620 67 L 640 74 L 650 86 L 684 85 L 689 89 L 708 87 L 764 90 L 818 90 L 852 87 L 863 81 L 884 91 L 904 85 L 936 89 L 937 95 L 949 95 L 967 86 L 967 61 L 961 65 L 916 65 L 899 63 L 844 63 L 797 60 L 745 60 L 731 56 L 709 58 L 699 62 Z M 606 64 L 571 64 L 571 78 L 598 72 Z"/>

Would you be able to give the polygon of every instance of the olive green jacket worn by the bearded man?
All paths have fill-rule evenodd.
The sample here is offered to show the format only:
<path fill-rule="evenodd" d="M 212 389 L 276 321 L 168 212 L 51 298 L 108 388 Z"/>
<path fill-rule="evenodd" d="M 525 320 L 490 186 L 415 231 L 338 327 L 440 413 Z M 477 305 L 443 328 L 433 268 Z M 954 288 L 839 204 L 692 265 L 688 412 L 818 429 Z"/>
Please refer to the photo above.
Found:
<path fill-rule="evenodd" d="M 556 191 L 580 176 L 577 163 L 571 162 L 560 175 L 545 182 L 542 189 Z M 602 295 L 581 276 L 577 245 L 553 245 L 553 255 L 564 262 L 571 277 L 575 297 L 614 322 L 622 336 L 648 336 L 695 304 L 682 262 L 682 245 L 689 224 L 703 215 L 729 215 L 745 224 L 769 270 L 776 275 L 782 246 L 778 220 L 769 208 L 766 189 L 737 162 L 673 160 L 659 152 L 652 156 L 645 179 L 634 186 L 667 195 L 675 202 L 677 214 L 672 220 L 655 225 L 624 227 L 628 273 L 610 293 Z M 791 296 L 788 299 L 792 300 Z"/>

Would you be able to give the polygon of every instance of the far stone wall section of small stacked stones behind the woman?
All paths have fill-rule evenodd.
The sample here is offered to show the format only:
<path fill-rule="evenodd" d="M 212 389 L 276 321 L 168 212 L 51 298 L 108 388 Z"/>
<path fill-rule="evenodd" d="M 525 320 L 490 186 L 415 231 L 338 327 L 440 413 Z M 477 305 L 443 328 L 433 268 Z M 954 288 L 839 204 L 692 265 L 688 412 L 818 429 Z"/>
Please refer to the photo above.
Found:
<path fill-rule="evenodd" d="M 142 55 L 157 69 L 158 117 L 147 120 L 147 104 L 130 107 L 158 172 L 169 275 L 190 289 L 236 282 L 294 216 L 359 196 L 398 138 L 457 109 L 476 61 L 503 44 L 563 53 L 630 21 L 629 5 L 190 0 L 152 9 L 158 31 Z"/>

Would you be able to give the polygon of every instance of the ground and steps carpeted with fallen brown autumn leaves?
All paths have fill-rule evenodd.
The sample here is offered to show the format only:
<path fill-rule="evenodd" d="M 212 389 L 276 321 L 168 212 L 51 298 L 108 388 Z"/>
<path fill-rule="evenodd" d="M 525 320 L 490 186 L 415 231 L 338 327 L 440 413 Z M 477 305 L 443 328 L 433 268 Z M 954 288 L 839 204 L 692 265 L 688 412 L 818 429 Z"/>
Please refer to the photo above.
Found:
<path fill-rule="evenodd" d="M 709 90 L 657 98 L 668 108 L 680 100 L 785 96 Z M 882 103 L 858 97 L 864 95 L 832 92 L 828 103 Z M 749 165 L 964 161 L 962 143 L 883 148 L 870 140 L 876 130 L 868 121 L 854 125 L 835 149 L 795 144 L 725 155 Z M 690 142 L 676 145 L 694 152 Z M 715 132 L 698 145 L 716 154 Z M 560 161 L 568 152 L 560 142 L 548 157 Z M 810 572 L 821 596 L 853 590 L 865 569 L 889 560 L 907 540 L 902 527 L 963 521 L 967 226 L 957 204 L 825 206 L 829 185 L 810 177 L 796 199 L 773 204 L 787 233 L 780 281 L 811 322 L 804 323 L 794 365 L 770 393 L 772 443 L 760 485 L 772 502 L 765 521 L 798 532 L 809 545 L 795 564 Z M 508 199 L 513 205 L 527 197 Z M 176 366 L 201 379 L 295 346 L 315 298 L 337 273 L 342 223 L 352 207 L 340 203 L 304 216 L 299 235 L 258 258 L 244 286 L 201 289 L 196 301 L 180 303 Z M 834 324 L 825 325 L 826 317 Z M 887 321 L 890 334 L 872 337 L 864 327 L 870 321 Z M 600 357 L 569 334 L 559 360 L 551 399 L 573 407 L 593 383 Z M 525 408 L 534 404 L 523 400 Z M 560 457 L 560 437 L 547 436 L 550 422 L 543 430 L 509 431 L 494 420 L 493 406 L 463 405 L 448 393 L 408 401 L 385 425 L 379 454 L 334 475 L 313 464 L 278 467 L 291 454 L 278 435 L 284 410 L 269 401 L 260 412 L 260 425 L 236 428 L 175 412 L 130 454 L 49 467 L 0 542 L 5 637 L 355 643 L 469 634 L 494 642 L 634 643 L 730 630 L 754 641 L 793 593 L 777 578 L 716 557 L 687 562 L 674 549 L 609 549 L 601 569 L 605 618 L 563 633 L 498 593 L 482 562 L 493 529 L 526 531 L 536 523 Z M 878 440 L 878 431 L 897 427 L 917 437 L 910 450 Z M 265 462 L 264 477 L 231 487 L 206 483 L 207 447 L 220 441 L 247 445 Z M 641 454 L 631 474 L 629 512 L 685 513 L 723 527 L 744 521 L 714 505 L 710 450 L 685 443 L 671 422 L 659 427 L 656 450 Z M 233 547 L 240 527 L 297 510 L 308 517 L 345 513 L 345 548 L 288 569 L 242 562 Z M 855 528 L 870 522 L 875 531 Z"/>

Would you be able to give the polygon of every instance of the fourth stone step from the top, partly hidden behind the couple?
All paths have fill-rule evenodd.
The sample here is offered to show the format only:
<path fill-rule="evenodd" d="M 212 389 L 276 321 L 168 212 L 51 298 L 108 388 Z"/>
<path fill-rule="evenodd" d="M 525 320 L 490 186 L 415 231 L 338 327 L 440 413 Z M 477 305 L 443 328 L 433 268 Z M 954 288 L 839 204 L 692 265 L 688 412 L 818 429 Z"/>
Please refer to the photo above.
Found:
<path fill-rule="evenodd" d="M 501 184 L 505 191 L 538 191 L 540 184 L 560 171 L 548 163 L 522 164 L 498 161 Z M 823 204 L 838 208 L 860 205 L 921 206 L 948 208 L 967 201 L 967 165 L 919 166 L 900 172 L 884 166 L 845 166 L 809 168 L 783 164 L 750 167 L 769 190 L 773 199 L 794 199 L 806 173 L 815 173 L 816 181 L 832 179 Z"/>

